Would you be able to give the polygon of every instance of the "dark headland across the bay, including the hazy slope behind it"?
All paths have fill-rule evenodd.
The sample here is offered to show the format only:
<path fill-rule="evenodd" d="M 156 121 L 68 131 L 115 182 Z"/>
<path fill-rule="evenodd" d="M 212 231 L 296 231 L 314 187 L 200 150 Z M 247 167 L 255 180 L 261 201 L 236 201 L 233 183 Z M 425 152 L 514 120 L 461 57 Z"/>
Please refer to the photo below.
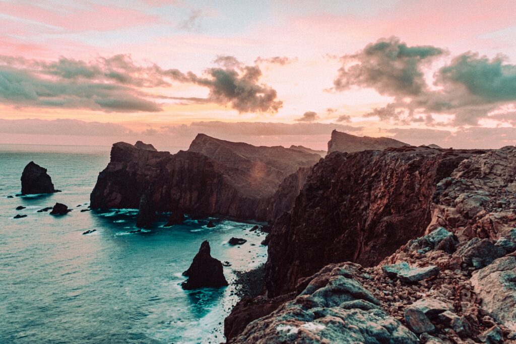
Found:
<path fill-rule="evenodd" d="M 207 136 L 201 138 L 207 146 L 205 151 L 218 160 L 197 152 L 180 151 L 172 155 L 149 150 L 141 144 L 138 148 L 125 142 L 115 143 L 110 162 L 99 174 L 91 192 L 91 207 L 138 208 L 142 194 L 151 188 L 148 203 L 153 204 L 156 211 L 183 211 L 195 217 L 219 215 L 273 220 L 292 208 L 310 171 L 309 167 L 303 166 L 311 166 L 319 159 L 315 154 L 291 152 L 284 148 L 272 148 L 272 153 L 277 153 L 275 155 L 263 148 L 269 152 L 270 161 L 253 161 L 245 157 L 244 150 L 239 150 L 239 144 L 235 151 L 227 147 L 212 150 L 213 142 L 219 140 Z M 199 140 L 195 146 L 201 150 Z M 245 145 L 245 149 L 256 155 L 262 150 L 248 146 Z M 289 154 L 282 163 L 283 151 Z M 250 153 L 247 155 L 253 157 Z M 264 167 L 261 170 L 263 174 L 257 172 L 257 165 Z M 291 176 L 287 173 L 289 171 L 294 171 Z M 283 175 L 288 178 L 283 177 L 278 182 Z M 266 191 L 261 190 L 262 185 Z M 276 187 L 270 192 L 268 189 L 273 185 Z M 276 197 L 281 199 L 276 200 Z"/>

